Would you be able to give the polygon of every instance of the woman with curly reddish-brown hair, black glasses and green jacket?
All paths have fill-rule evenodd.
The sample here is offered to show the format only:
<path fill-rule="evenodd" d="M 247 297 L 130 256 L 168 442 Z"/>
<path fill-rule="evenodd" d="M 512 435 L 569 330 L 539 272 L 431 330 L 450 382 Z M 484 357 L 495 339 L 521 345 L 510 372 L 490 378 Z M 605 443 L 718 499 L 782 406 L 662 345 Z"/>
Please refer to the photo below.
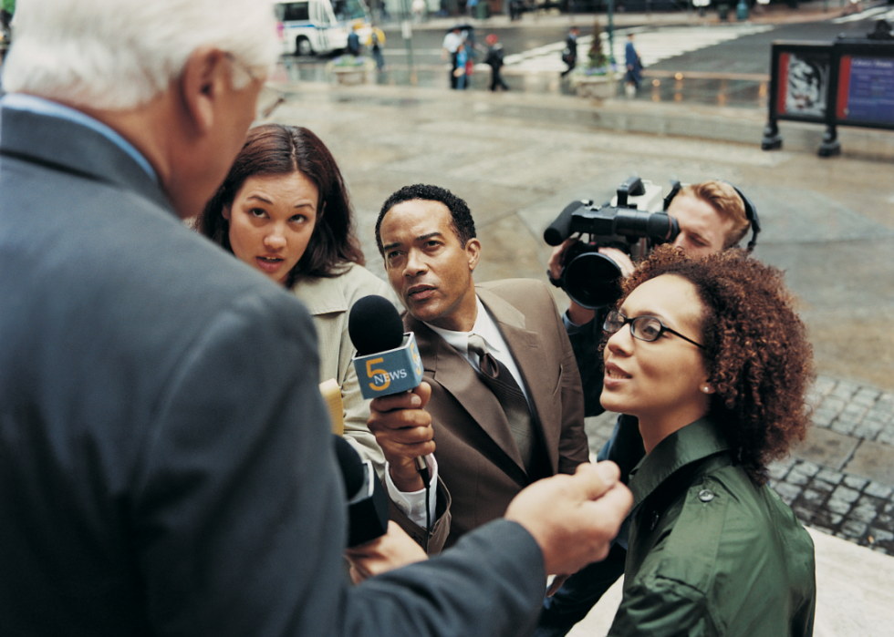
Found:
<path fill-rule="evenodd" d="M 809 635 L 813 542 L 767 487 L 803 439 L 811 347 L 782 273 L 661 246 L 608 313 L 602 405 L 639 418 L 610 635 Z"/>

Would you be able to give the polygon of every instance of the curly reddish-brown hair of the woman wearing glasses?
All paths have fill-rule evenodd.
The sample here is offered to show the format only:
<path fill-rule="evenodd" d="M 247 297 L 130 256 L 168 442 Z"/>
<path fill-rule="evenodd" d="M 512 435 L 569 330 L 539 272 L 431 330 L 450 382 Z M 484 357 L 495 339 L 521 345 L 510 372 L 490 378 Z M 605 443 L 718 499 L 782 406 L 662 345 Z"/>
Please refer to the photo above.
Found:
<path fill-rule="evenodd" d="M 785 457 L 810 424 L 805 394 L 813 349 L 783 272 L 740 249 L 690 259 L 663 245 L 623 282 L 617 307 L 662 274 L 689 281 L 702 300 L 702 359 L 715 389 L 711 415 L 748 475 L 765 484 L 767 464 Z"/>

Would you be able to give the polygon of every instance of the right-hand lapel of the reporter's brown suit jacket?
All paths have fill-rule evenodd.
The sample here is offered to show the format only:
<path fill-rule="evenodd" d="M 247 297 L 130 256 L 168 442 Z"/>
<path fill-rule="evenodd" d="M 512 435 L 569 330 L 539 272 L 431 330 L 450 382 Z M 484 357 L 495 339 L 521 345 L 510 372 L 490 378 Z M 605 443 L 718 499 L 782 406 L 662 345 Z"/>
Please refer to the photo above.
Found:
<path fill-rule="evenodd" d="M 553 394 L 555 377 L 551 373 L 555 362 L 546 358 L 540 335 L 525 329 L 525 315 L 513 305 L 489 290 L 477 288 L 478 298 L 494 317 L 500 332 L 515 358 L 515 365 L 525 382 L 528 402 L 535 410 L 537 422 L 546 445 L 546 456 L 555 473 L 558 470 L 558 439 L 561 426 L 555 425 L 555 414 L 560 413 Z"/>

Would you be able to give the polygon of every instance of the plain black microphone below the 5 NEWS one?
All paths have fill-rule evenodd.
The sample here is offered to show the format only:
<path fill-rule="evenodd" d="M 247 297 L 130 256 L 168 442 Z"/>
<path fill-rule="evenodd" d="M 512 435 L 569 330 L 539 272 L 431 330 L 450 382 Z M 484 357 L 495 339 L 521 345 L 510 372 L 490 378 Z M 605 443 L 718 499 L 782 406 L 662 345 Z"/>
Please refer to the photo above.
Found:
<path fill-rule="evenodd" d="M 332 438 L 348 492 L 348 547 L 355 547 L 388 532 L 389 499 L 372 462 L 361 459 L 344 438 Z"/>

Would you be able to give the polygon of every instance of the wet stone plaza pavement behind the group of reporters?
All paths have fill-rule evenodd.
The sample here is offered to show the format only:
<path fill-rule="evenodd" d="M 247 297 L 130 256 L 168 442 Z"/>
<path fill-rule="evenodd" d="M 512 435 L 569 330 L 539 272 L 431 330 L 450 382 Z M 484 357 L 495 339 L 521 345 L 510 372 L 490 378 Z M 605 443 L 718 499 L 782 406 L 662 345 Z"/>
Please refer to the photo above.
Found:
<path fill-rule="evenodd" d="M 890 634 L 894 133 L 842 139 L 840 157 L 821 159 L 788 138 L 785 149 L 762 151 L 750 127 L 765 114 L 755 110 L 641 102 L 637 117 L 658 127 L 646 134 L 602 126 L 629 111 L 625 103 L 418 87 L 275 88 L 285 103 L 272 119 L 311 128 L 338 159 L 368 265 L 379 274 L 379 206 L 410 183 L 437 183 L 469 202 L 483 244 L 479 281 L 546 281 L 546 225 L 569 201 L 608 200 L 634 173 L 660 184 L 720 178 L 747 192 L 764 224 L 755 256 L 786 271 L 815 348 L 815 426 L 791 458 L 771 467 L 771 484 L 815 533 L 826 600 L 816 634 Z M 556 290 L 560 305 L 563 296 Z M 610 423 L 588 419 L 592 447 Z M 842 591 L 855 603 L 842 605 Z"/>

